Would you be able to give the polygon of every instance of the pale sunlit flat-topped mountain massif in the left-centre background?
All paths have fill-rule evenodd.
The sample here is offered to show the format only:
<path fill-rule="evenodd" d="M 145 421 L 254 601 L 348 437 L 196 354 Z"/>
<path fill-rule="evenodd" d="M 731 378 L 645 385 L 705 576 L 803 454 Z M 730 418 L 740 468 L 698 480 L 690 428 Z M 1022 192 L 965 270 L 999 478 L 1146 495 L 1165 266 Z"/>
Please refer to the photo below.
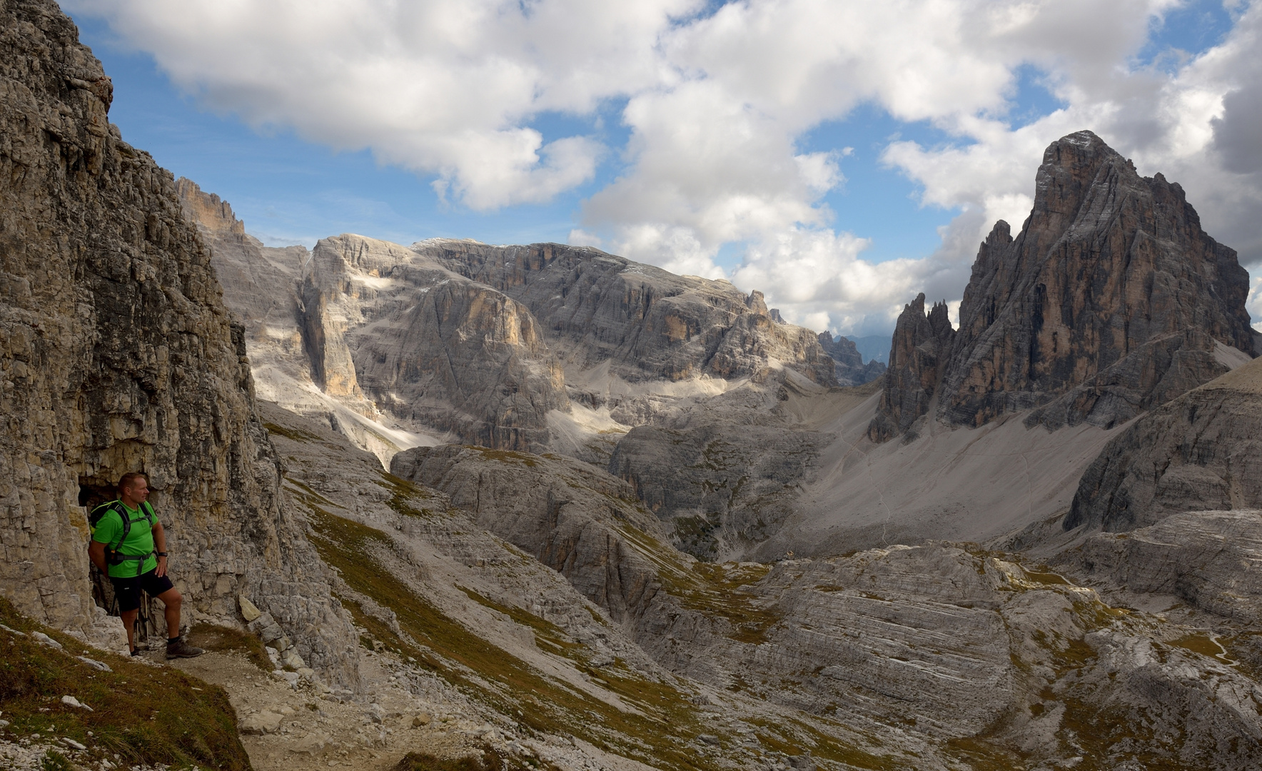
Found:
<path fill-rule="evenodd" d="M 328 416 L 384 463 L 443 438 L 607 457 L 599 432 L 680 397 L 790 370 L 837 384 L 814 333 L 727 281 L 555 244 L 342 235 L 309 255 L 274 250 L 216 196 L 189 180 L 180 194 L 246 326 L 260 394 Z"/>

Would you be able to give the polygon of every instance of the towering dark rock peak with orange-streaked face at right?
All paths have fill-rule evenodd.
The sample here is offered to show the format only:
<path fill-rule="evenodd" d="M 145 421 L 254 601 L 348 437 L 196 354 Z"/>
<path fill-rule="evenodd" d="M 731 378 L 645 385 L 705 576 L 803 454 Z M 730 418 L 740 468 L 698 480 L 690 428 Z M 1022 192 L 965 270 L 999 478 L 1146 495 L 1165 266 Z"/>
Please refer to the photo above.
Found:
<path fill-rule="evenodd" d="M 1247 294 L 1235 252 L 1201 230 L 1179 184 L 1140 177 L 1090 131 L 1070 134 L 1044 153 L 1021 232 L 1001 221 L 978 251 L 936 416 L 1124 423 L 1256 355 Z M 907 424 L 892 410 L 924 403 L 917 380 L 891 375 L 910 390 L 891 394 L 875 435 Z"/>

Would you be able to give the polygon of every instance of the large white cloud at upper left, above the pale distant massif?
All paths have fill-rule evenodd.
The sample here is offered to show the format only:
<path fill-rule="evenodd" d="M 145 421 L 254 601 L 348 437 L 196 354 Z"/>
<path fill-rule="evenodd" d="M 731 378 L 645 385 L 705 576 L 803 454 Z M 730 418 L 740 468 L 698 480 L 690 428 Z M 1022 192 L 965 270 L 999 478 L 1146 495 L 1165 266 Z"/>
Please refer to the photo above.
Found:
<path fill-rule="evenodd" d="M 603 148 L 549 143 L 543 111 L 661 82 L 655 45 L 697 0 L 71 0 L 150 52 L 178 86 L 257 127 L 437 175 L 476 209 L 539 203 L 592 178 Z"/>

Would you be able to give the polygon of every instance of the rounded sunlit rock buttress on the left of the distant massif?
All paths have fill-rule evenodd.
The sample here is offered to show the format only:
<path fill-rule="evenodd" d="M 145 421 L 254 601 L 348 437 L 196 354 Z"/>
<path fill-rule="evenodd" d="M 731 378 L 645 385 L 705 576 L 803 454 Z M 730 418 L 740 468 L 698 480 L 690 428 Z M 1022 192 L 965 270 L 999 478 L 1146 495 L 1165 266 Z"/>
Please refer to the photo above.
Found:
<path fill-rule="evenodd" d="M 569 406 L 564 375 L 524 305 L 410 249 L 323 238 L 302 298 L 312 368 L 327 394 L 367 397 L 505 449 L 541 449 L 548 413 Z"/>

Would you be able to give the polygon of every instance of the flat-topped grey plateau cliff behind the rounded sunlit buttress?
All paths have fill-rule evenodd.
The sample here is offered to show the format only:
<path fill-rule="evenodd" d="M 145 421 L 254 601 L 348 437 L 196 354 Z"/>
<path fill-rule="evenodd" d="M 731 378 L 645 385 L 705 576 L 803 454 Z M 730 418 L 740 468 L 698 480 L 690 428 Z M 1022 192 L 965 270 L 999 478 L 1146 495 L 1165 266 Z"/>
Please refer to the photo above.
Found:
<path fill-rule="evenodd" d="M 627 381 L 734 379 L 782 362 L 835 385 L 833 362 L 809 329 L 776 323 L 762 293 L 676 276 L 589 247 L 414 245 L 451 270 L 525 304 L 558 356 L 581 370 L 608 361 Z"/>

